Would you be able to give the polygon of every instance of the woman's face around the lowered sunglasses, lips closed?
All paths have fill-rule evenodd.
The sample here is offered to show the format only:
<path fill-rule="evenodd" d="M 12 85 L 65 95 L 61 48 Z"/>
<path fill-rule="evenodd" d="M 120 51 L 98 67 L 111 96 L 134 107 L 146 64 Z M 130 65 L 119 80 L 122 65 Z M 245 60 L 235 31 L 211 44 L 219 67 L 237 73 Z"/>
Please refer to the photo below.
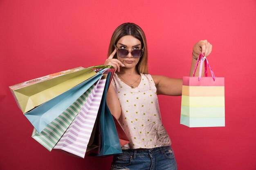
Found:
<path fill-rule="evenodd" d="M 141 42 L 132 35 L 126 35 L 117 41 L 117 48 L 124 48 L 127 50 L 141 49 Z M 135 68 L 140 58 L 133 58 L 132 54 L 129 52 L 126 58 L 117 55 L 117 59 L 121 61 L 126 68 Z"/>

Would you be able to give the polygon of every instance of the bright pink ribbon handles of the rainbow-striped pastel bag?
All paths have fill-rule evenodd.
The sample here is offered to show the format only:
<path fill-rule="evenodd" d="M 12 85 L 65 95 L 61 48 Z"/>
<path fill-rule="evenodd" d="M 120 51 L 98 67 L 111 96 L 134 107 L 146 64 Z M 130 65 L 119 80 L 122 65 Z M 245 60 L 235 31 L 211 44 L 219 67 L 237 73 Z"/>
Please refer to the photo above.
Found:
<path fill-rule="evenodd" d="M 213 73 L 213 70 L 211 69 L 211 66 L 209 65 L 209 62 L 208 62 L 207 58 L 204 57 L 204 53 L 202 54 L 202 52 L 200 53 L 200 55 L 199 55 L 199 57 L 198 57 L 198 61 L 196 61 L 195 69 L 194 69 L 194 73 L 193 73 L 193 77 L 195 76 L 195 71 L 196 71 L 196 68 L 198 67 L 199 60 L 200 60 L 200 67 L 199 67 L 199 77 L 198 77 L 198 81 L 200 81 L 200 78 L 201 78 L 201 76 L 202 76 L 203 61 L 204 61 L 204 74 L 205 74 L 205 76 L 207 77 L 207 66 L 208 66 L 209 69 L 210 69 L 210 72 L 211 72 L 211 76 L 212 76 L 212 78 L 213 78 L 213 81 L 215 81 L 215 75 L 214 75 L 214 73 Z"/>

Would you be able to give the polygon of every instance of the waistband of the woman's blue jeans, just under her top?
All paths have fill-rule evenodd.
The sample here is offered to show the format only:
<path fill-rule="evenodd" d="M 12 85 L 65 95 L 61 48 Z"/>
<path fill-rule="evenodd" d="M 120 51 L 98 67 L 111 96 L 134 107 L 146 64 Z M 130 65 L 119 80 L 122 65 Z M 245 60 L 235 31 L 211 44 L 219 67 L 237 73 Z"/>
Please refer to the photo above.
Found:
<path fill-rule="evenodd" d="M 136 157 L 141 157 L 141 156 L 152 157 L 153 155 L 158 153 L 164 154 L 166 150 L 170 150 L 170 149 L 171 149 L 171 146 L 160 146 L 160 147 L 150 148 L 150 149 L 124 149 L 122 150 L 123 153 L 118 154 L 116 156 L 129 156 L 129 157 L 133 157 L 133 159 L 136 159 Z"/>

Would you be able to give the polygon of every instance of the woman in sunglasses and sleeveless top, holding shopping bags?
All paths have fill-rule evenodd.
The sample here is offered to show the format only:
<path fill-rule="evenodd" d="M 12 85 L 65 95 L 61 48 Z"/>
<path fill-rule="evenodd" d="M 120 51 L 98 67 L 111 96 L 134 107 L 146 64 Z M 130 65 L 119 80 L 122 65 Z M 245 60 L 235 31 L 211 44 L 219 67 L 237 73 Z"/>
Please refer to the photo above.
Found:
<path fill-rule="evenodd" d="M 211 49 L 207 40 L 195 44 L 190 76 L 199 54 L 204 52 L 208 56 Z M 148 74 L 146 37 L 133 23 L 117 27 L 108 56 L 104 65 L 112 65 L 116 70 L 108 90 L 108 107 L 130 140 L 122 147 L 122 154 L 114 155 L 112 170 L 176 170 L 157 95 L 180 96 L 182 79 Z"/>

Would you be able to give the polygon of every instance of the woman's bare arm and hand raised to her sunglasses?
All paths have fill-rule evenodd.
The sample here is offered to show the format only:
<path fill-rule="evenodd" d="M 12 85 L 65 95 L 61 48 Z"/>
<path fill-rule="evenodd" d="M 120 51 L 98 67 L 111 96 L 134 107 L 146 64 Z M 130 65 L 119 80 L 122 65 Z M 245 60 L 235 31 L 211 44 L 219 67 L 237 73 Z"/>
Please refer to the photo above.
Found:
<path fill-rule="evenodd" d="M 116 52 L 117 51 L 114 50 L 112 52 L 112 54 L 110 54 L 108 59 L 106 59 L 104 65 L 112 65 L 115 68 L 115 71 L 116 70 L 120 71 L 120 66 L 124 67 L 124 64 L 121 63 L 121 61 L 119 61 L 118 59 L 113 59 Z M 118 100 L 117 94 L 115 92 L 115 89 L 114 89 L 112 83 L 110 83 L 110 86 L 108 88 L 107 104 L 108 104 L 108 108 L 110 109 L 111 114 L 117 120 L 119 120 L 119 118 L 121 116 L 121 105 L 120 105 L 120 102 Z"/>

